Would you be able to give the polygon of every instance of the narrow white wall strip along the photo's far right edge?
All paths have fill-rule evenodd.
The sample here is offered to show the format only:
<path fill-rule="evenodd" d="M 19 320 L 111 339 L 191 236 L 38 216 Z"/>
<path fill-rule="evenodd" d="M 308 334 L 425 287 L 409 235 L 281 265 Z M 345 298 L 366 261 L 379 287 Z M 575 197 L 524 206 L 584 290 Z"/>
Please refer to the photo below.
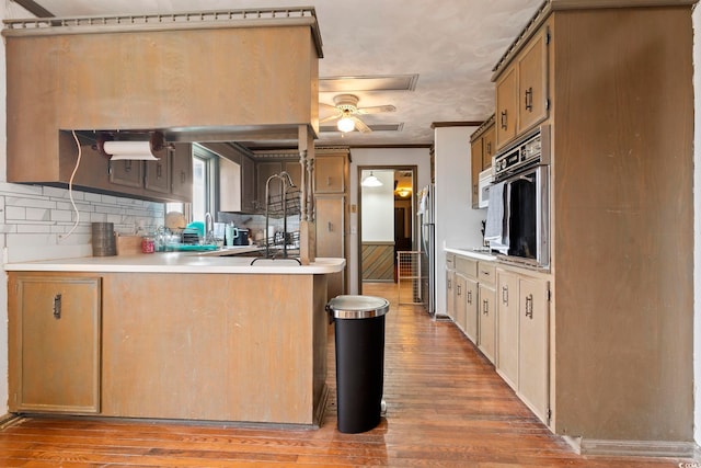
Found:
<path fill-rule="evenodd" d="M 701 186 L 701 132 L 698 132 L 701 122 L 701 39 L 699 39 L 699 28 L 701 27 L 701 9 L 693 11 L 693 88 L 694 88 L 694 187 Z M 693 195 L 693 284 L 694 284 L 694 324 L 693 324 L 693 383 L 694 383 L 694 440 L 701 445 L 701 191 L 696 190 Z"/>

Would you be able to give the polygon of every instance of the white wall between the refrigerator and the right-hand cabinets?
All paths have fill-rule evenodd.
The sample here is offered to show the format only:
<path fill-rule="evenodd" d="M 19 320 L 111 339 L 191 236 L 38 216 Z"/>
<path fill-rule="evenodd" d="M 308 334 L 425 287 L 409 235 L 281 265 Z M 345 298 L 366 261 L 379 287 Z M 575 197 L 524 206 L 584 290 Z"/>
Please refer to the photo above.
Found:
<path fill-rule="evenodd" d="M 436 315 L 446 315 L 444 248 L 482 246 L 486 209 L 472 209 L 470 135 L 476 127 L 438 127 L 435 132 L 436 174 Z"/>

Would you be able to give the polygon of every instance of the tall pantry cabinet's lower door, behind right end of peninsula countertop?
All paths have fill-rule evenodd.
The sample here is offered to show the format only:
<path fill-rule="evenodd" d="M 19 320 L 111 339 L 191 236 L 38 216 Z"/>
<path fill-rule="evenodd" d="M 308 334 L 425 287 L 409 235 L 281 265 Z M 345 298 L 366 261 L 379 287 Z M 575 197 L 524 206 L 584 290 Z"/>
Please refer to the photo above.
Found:
<path fill-rule="evenodd" d="M 317 256 L 345 258 L 345 196 L 318 196 L 317 209 Z M 329 298 L 344 294 L 344 272 L 327 277 Z"/>

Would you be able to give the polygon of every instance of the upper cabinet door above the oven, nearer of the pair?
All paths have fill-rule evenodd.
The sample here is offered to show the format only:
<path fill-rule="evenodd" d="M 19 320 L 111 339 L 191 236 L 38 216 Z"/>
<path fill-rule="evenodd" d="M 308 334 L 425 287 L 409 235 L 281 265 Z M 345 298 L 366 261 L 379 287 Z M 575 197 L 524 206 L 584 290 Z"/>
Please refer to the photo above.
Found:
<path fill-rule="evenodd" d="M 528 130 L 548 117 L 547 31 L 536 35 L 518 62 L 518 130 Z"/>

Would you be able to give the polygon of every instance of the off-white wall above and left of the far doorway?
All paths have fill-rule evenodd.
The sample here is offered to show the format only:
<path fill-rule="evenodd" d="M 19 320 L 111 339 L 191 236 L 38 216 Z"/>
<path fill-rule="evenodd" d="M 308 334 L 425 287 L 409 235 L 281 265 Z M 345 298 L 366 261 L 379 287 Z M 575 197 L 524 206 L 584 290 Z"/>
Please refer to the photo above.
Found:
<path fill-rule="evenodd" d="M 416 165 L 416 186 L 430 183 L 430 152 L 428 148 L 359 148 L 350 150 L 350 205 L 358 205 L 358 167 Z M 393 216 L 393 215 L 392 215 Z M 348 236 L 348 292 L 358 294 L 358 214 L 350 213 Z"/>

